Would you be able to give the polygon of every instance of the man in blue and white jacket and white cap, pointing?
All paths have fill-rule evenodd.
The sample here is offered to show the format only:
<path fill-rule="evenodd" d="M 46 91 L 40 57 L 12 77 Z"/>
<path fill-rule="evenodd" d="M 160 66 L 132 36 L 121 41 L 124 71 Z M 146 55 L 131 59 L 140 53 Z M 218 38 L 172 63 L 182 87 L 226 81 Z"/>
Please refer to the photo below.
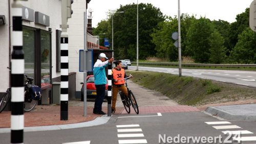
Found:
<path fill-rule="evenodd" d="M 106 72 L 105 67 L 114 61 L 114 58 L 108 60 L 104 53 L 99 54 L 99 58 L 93 66 L 94 84 L 97 96 L 94 103 L 93 113 L 106 114 L 102 111 L 102 103 L 105 97 Z"/>

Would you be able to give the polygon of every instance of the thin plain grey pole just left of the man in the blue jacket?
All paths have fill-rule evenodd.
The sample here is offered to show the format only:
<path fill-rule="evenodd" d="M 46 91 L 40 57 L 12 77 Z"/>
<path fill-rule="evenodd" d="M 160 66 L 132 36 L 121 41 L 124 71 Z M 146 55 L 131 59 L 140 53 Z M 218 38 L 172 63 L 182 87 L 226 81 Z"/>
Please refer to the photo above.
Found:
<path fill-rule="evenodd" d="M 86 70 L 86 51 L 87 51 L 87 11 L 83 13 L 84 17 L 84 69 L 83 69 L 83 116 L 87 116 L 87 70 Z"/>

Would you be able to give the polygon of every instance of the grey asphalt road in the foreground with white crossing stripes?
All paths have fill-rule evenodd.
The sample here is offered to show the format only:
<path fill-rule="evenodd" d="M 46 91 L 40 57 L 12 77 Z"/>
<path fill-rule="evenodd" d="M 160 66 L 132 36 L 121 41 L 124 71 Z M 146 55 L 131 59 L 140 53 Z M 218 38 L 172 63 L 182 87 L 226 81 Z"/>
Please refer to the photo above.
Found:
<path fill-rule="evenodd" d="M 145 115 L 114 115 L 110 121 L 101 126 L 57 130 L 25 132 L 24 143 L 69 143 L 83 141 L 92 144 L 114 143 L 200 143 L 192 142 L 192 138 L 206 137 L 208 143 L 238 143 L 236 135 L 224 135 L 224 131 L 240 131 L 242 136 L 255 136 L 254 122 L 222 121 L 203 112 L 176 112 Z M 208 124 L 217 122 L 219 124 Z M 220 124 L 225 122 L 228 124 Z M 223 126 L 223 127 L 220 127 Z M 233 127 L 228 128 L 227 126 Z M 230 136 L 230 138 L 229 138 Z M 241 135 L 240 135 L 241 136 Z M 175 139 L 176 137 L 176 139 Z M 179 137 L 179 138 L 177 138 Z M 186 139 L 181 141 L 181 137 Z M 187 142 L 188 137 L 190 141 Z M 10 133 L 0 135 L 0 143 L 9 143 Z M 213 140 L 216 139 L 216 142 Z M 174 141 L 176 140 L 176 141 Z M 180 141 L 177 141 L 180 140 Z M 203 140 L 201 138 L 200 140 Z M 221 142 L 219 142 L 221 140 Z M 165 141 L 165 142 L 163 142 Z M 204 143 L 204 142 L 201 142 Z M 242 143 L 255 143 L 243 141 Z"/>

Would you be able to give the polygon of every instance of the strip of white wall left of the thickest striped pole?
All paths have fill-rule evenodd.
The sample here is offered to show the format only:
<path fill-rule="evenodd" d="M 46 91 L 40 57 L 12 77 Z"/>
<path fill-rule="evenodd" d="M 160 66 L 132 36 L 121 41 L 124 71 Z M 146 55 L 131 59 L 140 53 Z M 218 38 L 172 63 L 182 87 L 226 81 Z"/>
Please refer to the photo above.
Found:
<path fill-rule="evenodd" d="M 9 86 L 9 1 L 0 1 L 0 15 L 5 15 L 6 24 L 0 25 L 0 92 L 5 92 Z"/>

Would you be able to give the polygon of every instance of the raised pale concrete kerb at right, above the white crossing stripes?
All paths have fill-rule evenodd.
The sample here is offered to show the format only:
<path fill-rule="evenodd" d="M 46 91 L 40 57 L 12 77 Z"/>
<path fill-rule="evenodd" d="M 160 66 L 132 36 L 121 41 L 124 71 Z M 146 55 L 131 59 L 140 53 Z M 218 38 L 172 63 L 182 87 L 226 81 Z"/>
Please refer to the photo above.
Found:
<path fill-rule="evenodd" d="M 207 107 L 205 111 L 212 115 L 219 116 L 227 120 L 256 122 L 256 115 L 232 114 L 217 107 Z"/>

